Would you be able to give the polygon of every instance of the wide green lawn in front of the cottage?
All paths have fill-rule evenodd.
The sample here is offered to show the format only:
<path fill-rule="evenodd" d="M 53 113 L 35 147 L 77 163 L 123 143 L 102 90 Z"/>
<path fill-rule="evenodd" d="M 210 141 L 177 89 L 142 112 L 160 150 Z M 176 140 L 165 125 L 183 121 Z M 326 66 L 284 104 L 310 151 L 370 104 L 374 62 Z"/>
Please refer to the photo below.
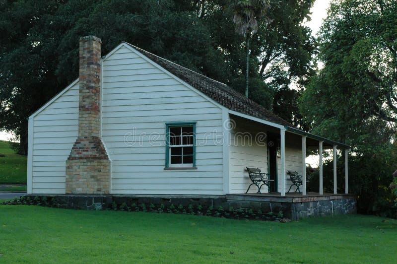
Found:
<path fill-rule="evenodd" d="M 347 215 L 282 224 L 2 205 L 0 237 L 0 263 L 394 263 L 397 221 Z"/>

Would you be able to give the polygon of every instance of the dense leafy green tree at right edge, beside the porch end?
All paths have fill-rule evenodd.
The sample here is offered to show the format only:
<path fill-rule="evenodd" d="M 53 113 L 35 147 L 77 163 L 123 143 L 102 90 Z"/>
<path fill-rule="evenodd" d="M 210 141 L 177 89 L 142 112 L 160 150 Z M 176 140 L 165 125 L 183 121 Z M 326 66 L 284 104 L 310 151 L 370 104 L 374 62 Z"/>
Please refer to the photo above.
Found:
<path fill-rule="evenodd" d="M 393 210 L 389 185 L 397 169 L 397 144 L 392 143 L 397 139 L 396 21 L 396 1 L 333 1 L 319 38 L 324 67 L 300 97 L 300 110 L 314 133 L 353 146 L 350 191 L 358 195 L 361 212 Z M 326 166 L 332 172 L 331 164 Z"/>

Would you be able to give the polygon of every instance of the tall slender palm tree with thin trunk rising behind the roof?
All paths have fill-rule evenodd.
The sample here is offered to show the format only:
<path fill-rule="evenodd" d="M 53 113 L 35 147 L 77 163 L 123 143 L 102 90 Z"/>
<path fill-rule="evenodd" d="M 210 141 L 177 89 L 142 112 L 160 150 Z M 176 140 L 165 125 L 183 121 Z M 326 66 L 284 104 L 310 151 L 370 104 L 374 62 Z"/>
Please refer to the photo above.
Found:
<path fill-rule="evenodd" d="M 236 24 L 236 32 L 243 35 L 246 40 L 245 96 L 248 98 L 250 38 L 252 34 L 258 31 L 258 18 L 266 14 L 269 3 L 268 0 L 236 0 L 232 7 L 234 10 L 233 22 Z"/>

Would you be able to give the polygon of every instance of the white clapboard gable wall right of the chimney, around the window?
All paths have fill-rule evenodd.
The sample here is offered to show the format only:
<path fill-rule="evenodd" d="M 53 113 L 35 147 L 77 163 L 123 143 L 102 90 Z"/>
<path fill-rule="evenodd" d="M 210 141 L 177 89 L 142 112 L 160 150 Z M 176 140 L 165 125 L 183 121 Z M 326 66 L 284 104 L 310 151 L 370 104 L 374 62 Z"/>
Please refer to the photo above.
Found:
<path fill-rule="evenodd" d="M 103 61 L 102 94 L 113 194 L 223 194 L 219 107 L 123 46 Z M 183 121 L 197 122 L 197 169 L 164 170 L 165 123 Z"/>

